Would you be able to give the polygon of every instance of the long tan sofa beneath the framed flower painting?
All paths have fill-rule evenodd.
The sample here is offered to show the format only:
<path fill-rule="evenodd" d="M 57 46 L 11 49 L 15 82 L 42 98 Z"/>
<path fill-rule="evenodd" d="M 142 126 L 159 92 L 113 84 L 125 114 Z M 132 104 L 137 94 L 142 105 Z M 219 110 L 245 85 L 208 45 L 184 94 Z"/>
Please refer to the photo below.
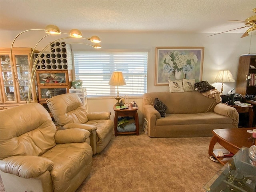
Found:
<path fill-rule="evenodd" d="M 155 98 L 167 106 L 166 117 L 154 108 Z M 197 91 L 145 93 L 143 112 L 150 137 L 212 136 L 213 129 L 237 128 L 239 120 L 235 108 Z"/>

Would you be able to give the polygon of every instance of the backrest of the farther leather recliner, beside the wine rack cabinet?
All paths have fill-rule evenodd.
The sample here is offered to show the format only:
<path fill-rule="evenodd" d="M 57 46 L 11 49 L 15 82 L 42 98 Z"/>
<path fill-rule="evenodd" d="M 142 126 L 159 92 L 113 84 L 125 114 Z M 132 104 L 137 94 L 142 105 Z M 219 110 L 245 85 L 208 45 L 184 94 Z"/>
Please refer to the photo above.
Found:
<path fill-rule="evenodd" d="M 75 93 L 54 96 L 47 101 L 54 120 L 60 125 L 70 123 L 86 123 L 86 108 Z"/>

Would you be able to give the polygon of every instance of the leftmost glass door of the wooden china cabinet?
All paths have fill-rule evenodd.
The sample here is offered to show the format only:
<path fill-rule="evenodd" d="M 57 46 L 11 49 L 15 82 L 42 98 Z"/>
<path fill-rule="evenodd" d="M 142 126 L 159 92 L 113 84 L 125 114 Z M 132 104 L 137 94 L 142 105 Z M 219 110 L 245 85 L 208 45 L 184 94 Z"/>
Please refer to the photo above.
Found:
<path fill-rule="evenodd" d="M 2 96 L 6 103 L 15 103 L 16 95 L 14 88 L 14 76 L 10 64 L 10 55 L 0 55 L 1 58 L 1 80 L 3 84 Z"/>

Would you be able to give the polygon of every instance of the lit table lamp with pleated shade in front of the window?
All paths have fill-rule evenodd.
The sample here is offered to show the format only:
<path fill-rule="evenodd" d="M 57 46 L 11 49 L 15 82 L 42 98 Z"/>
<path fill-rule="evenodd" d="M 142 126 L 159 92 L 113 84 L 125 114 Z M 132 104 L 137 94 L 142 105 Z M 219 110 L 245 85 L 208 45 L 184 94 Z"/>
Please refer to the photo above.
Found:
<path fill-rule="evenodd" d="M 123 73 L 119 71 L 114 71 L 110 77 L 108 84 L 117 86 L 117 97 L 115 97 L 115 99 L 117 100 L 116 106 L 120 106 L 121 104 L 119 103 L 119 100 L 121 99 L 121 97 L 119 96 L 118 86 L 126 85 Z"/>

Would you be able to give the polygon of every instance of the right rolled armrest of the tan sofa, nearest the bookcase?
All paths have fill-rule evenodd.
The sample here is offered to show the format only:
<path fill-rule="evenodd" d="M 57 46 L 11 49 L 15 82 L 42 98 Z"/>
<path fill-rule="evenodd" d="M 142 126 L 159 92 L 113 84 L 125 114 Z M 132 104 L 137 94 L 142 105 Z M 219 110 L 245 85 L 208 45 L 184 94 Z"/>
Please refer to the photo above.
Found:
<path fill-rule="evenodd" d="M 239 114 L 234 107 L 228 106 L 224 103 L 218 103 L 214 108 L 214 112 L 231 118 L 233 120 L 234 127 L 238 127 Z"/>

